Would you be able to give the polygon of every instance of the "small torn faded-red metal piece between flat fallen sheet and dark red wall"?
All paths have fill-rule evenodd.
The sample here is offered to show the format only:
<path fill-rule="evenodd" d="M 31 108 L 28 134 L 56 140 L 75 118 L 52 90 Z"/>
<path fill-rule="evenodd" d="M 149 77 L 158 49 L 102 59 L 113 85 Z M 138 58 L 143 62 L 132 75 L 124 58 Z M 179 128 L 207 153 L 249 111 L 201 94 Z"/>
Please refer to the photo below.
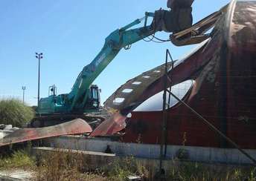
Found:
<path fill-rule="evenodd" d="M 90 136 L 105 136 L 113 135 L 122 131 L 126 127 L 126 116 L 122 116 L 121 113 L 114 113 L 109 119 L 102 122 Z"/>

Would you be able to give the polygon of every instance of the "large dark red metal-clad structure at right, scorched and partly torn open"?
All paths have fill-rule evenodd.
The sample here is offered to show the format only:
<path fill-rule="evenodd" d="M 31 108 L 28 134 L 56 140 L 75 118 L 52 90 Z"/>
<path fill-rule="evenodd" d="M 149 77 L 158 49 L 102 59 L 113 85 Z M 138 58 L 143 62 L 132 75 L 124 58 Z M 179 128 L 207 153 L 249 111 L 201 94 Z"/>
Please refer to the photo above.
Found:
<path fill-rule="evenodd" d="M 184 101 L 241 148 L 256 145 L 256 1 L 232 1 L 209 42 L 170 71 L 173 84 L 195 81 Z M 137 102 L 163 90 L 162 79 L 145 89 Z M 226 148 L 217 134 L 183 105 L 170 108 L 168 145 Z M 124 142 L 159 143 L 161 111 L 134 112 Z"/>

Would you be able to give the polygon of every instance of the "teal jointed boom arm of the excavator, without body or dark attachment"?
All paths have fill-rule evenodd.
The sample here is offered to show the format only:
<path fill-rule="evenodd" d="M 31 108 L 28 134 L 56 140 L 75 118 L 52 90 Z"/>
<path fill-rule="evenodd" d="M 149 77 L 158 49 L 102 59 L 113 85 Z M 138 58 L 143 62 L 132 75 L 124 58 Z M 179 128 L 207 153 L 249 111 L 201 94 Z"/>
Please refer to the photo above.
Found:
<path fill-rule="evenodd" d="M 134 22 L 127 24 L 121 29 L 113 31 L 106 37 L 105 44 L 97 54 L 95 59 L 83 68 L 70 93 L 68 100 L 71 102 L 70 111 L 83 109 L 88 99 L 88 88 L 97 76 L 106 68 L 107 65 L 115 58 L 123 47 L 132 45 L 141 39 L 155 33 L 153 25 L 147 26 L 147 17 L 153 17 L 154 13 L 146 13 L 142 19 L 136 19 Z M 140 24 L 145 19 L 144 27 L 130 29 Z"/>

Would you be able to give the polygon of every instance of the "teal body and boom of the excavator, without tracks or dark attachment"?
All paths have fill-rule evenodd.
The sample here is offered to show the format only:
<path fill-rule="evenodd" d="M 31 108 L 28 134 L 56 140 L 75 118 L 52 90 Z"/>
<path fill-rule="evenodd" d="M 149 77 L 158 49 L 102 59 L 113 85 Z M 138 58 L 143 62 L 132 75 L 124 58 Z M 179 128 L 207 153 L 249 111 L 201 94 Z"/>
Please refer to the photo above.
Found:
<path fill-rule="evenodd" d="M 154 13 L 146 13 L 142 19 L 136 19 L 134 22 L 121 27 L 110 33 L 106 37 L 103 48 L 97 54 L 89 65 L 86 65 L 77 77 L 70 93 L 59 96 L 49 96 L 40 100 L 39 113 L 71 113 L 86 112 L 86 105 L 89 98 L 92 97 L 91 85 L 97 76 L 106 68 L 115 58 L 123 47 L 132 45 L 141 39 L 155 33 L 152 25 L 130 29 L 140 24 L 144 19 L 154 16 Z"/>

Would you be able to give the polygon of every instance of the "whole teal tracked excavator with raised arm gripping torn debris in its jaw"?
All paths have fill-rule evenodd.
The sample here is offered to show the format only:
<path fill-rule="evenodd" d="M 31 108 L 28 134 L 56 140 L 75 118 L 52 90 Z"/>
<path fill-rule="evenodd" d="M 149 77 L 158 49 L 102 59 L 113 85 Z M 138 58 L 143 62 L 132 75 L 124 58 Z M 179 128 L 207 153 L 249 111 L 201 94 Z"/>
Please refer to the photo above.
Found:
<path fill-rule="evenodd" d="M 162 30 L 172 34 L 169 40 L 159 40 L 171 41 L 177 46 L 196 44 L 208 38 L 205 32 L 214 25 L 220 13 L 213 13 L 192 26 L 192 3 L 193 0 L 168 0 L 167 7 L 170 10 L 146 12 L 144 18 L 136 19 L 110 33 L 100 53 L 80 72 L 70 93 L 57 95 L 55 85 L 49 88 L 49 96 L 40 99 L 36 117 L 30 126 L 37 128 L 57 125 L 76 118 L 85 119 L 89 124 L 106 119 L 103 111 L 100 111 L 100 89 L 92 83 L 122 48 L 128 50 L 133 43 L 146 38 L 149 39 L 145 40 L 148 42 L 156 38 L 156 32 Z M 149 18 L 153 19 L 150 25 L 147 24 Z M 143 21 L 142 27 L 132 29 Z"/>

